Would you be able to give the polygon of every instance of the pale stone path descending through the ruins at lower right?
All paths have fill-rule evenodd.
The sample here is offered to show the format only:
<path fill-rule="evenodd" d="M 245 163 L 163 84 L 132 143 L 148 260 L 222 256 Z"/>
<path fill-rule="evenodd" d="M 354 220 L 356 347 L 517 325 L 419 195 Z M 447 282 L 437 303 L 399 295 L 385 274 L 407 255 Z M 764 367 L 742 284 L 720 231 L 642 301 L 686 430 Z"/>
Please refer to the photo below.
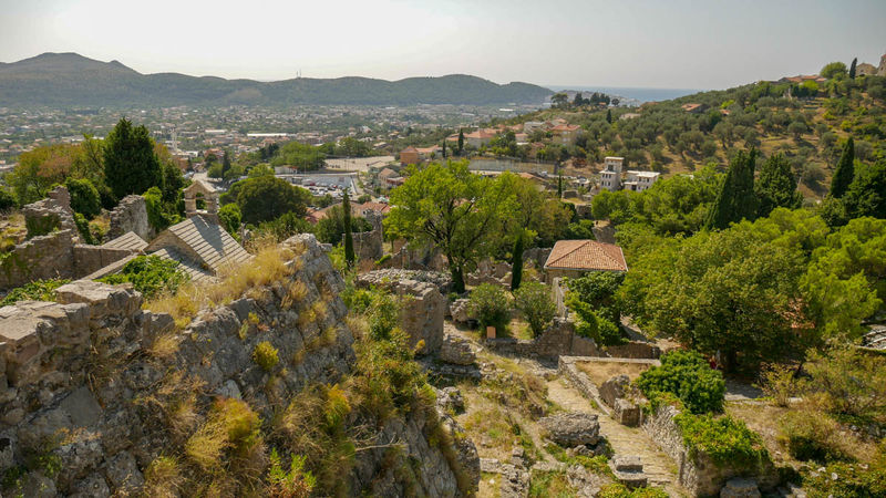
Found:
<path fill-rule="evenodd" d="M 637 455 L 649 475 L 649 484 L 664 488 L 671 496 L 683 496 L 677 485 L 677 468 L 673 460 L 658 450 L 655 442 L 640 428 L 624 426 L 591 406 L 574 387 L 562 378 L 548 381 L 548 398 L 565 409 L 593 413 L 599 416 L 600 434 L 606 437 L 616 455 Z"/>

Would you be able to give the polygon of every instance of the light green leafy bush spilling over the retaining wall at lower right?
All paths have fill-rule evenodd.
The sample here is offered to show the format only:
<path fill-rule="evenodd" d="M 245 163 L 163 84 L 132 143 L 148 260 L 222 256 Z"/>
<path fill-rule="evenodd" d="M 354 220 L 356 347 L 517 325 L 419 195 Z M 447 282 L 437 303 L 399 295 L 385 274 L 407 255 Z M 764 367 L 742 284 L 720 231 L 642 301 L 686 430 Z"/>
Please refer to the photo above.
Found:
<path fill-rule="evenodd" d="M 674 422 L 690 455 L 703 452 L 718 466 L 753 469 L 770 458 L 760 436 L 730 416 L 681 413 Z"/>

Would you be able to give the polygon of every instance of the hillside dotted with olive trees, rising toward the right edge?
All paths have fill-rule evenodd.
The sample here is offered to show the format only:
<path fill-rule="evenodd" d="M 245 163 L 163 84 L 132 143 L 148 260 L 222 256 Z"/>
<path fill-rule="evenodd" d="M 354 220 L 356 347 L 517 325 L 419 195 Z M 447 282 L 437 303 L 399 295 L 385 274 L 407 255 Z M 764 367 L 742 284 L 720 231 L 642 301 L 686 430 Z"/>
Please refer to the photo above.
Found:
<path fill-rule="evenodd" d="M 855 138 L 859 160 L 886 157 L 885 98 L 883 76 L 842 77 L 815 84 L 759 82 L 648 103 L 639 108 L 567 104 L 503 123 L 560 117 L 581 125 L 584 137 L 565 147 L 560 158 L 575 158 L 570 163 L 577 166 L 575 173 L 585 175 L 599 170 L 607 155 L 624 156 L 630 168 L 659 170 L 668 176 L 709 163 L 725 166 L 733 151 L 755 146 L 764 156 L 787 156 L 803 194 L 821 197 L 847 136 Z M 701 107 L 690 112 L 683 107 L 686 104 Z M 538 138 L 549 143 L 547 137 L 530 137 Z"/>

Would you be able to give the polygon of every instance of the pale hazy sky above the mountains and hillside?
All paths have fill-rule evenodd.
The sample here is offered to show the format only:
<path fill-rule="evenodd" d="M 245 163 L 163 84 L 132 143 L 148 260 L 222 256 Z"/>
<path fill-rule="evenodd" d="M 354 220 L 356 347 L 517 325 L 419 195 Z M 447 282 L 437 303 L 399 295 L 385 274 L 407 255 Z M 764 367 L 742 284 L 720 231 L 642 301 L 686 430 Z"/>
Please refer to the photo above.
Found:
<path fill-rule="evenodd" d="M 0 61 L 42 52 L 257 80 L 723 89 L 877 65 L 886 0 L 0 0 Z"/>

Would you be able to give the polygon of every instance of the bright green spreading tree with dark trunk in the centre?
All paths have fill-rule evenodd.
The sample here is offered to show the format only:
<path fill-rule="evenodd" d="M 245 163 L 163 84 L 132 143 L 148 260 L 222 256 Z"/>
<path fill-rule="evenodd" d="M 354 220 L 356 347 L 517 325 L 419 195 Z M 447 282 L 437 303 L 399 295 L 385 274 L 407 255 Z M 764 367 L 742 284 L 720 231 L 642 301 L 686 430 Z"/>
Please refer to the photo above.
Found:
<path fill-rule="evenodd" d="M 385 228 L 413 243 L 440 248 L 453 290 L 464 292 L 465 270 L 501 243 L 506 215 L 516 207 L 513 191 L 502 181 L 471 173 L 465 160 L 413 165 L 406 178 L 391 191 Z"/>

